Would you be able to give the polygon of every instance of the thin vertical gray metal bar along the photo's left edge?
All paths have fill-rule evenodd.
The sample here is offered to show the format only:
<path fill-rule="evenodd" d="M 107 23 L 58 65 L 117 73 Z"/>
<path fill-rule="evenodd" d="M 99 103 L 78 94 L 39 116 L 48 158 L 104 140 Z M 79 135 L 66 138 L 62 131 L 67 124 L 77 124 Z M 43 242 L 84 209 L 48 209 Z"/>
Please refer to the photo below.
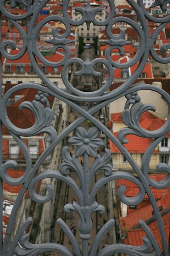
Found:
<path fill-rule="evenodd" d="M 1 13 L 0 13 L 0 43 L 1 43 Z M 0 100 L 2 98 L 2 56 L 0 53 Z M 2 121 L 0 120 L 0 168 L 2 166 Z M 3 181 L 0 177 L 0 255 L 3 245 Z"/>

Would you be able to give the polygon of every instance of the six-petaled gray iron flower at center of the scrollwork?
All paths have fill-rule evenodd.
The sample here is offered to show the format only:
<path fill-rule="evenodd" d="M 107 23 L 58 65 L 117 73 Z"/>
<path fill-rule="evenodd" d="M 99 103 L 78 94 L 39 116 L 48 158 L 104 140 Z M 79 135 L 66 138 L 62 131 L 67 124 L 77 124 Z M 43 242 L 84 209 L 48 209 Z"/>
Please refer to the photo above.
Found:
<path fill-rule="evenodd" d="M 73 146 L 78 146 L 76 148 L 76 156 L 83 155 L 87 153 L 88 155 L 95 156 L 97 151 L 95 148 L 101 148 L 104 146 L 104 142 L 97 138 L 98 128 L 92 127 L 88 131 L 83 127 L 78 127 L 75 130 L 77 137 L 72 137 L 68 140 Z"/>

